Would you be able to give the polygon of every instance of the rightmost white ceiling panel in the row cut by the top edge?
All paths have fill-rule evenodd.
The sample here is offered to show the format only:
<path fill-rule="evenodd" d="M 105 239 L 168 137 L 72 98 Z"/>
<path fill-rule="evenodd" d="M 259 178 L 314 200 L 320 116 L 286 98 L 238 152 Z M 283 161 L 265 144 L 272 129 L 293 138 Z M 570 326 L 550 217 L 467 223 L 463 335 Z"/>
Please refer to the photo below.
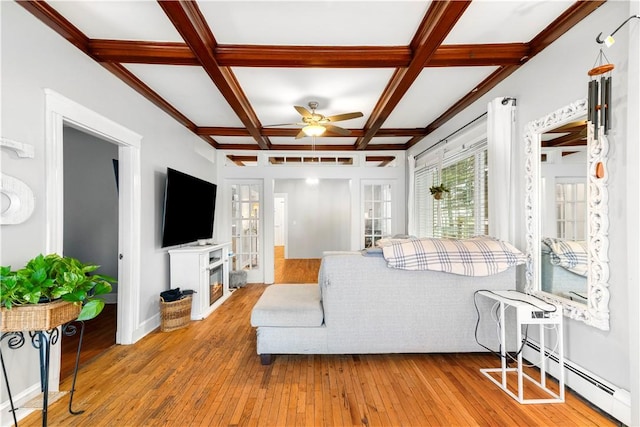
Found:
<path fill-rule="evenodd" d="M 444 44 L 528 42 L 572 3 L 564 0 L 474 1 Z"/>

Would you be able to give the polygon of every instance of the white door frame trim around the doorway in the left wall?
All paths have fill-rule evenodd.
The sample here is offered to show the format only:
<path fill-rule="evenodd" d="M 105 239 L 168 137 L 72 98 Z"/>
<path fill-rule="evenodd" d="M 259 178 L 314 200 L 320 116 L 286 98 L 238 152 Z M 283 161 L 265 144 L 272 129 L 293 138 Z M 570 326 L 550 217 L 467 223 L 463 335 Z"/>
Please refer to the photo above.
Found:
<path fill-rule="evenodd" d="M 136 341 L 140 304 L 140 148 L 142 137 L 108 118 L 45 89 L 45 180 L 47 253 L 63 253 L 63 134 L 71 126 L 118 146 L 118 316 L 116 343 Z M 50 382 L 60 379 L 60 346 L 51 353 Z"/>

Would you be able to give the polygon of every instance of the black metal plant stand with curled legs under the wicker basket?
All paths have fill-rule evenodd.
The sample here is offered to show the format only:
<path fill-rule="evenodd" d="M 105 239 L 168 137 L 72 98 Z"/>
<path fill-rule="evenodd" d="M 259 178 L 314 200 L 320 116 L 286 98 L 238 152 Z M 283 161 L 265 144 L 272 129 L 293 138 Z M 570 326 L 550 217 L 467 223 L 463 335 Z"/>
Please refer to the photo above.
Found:
<path fill-rule="evenodd" d="M 77 325 L 79 324 L 79 326 Z M 71 384 L 71 391 L 69 392 L 69 413 L 72 415 L 82 414 L 84 411 L 74 411 L 73 394 L 76 389 L 76 378 L 78 376 L 78 365 L 80 364 L 80 350 L 82 348 L 82 338 L 84 336 L 84 322 L 81 320 L 74 320 L 62 325 L 62 333 L 66 336 L 73 336 L 80 329 L 80 337 L 78 340 L 78 351 L 76 352 L 75 367 L 73 370 L 73 382 Z M 42 392 L 42 425 L 47 425 L 47 412 L 49 406 L 49 363 L 51 356 L 51 345 L 55 345 L 60 338 L 60 329 L 53 328 L 49 331 L 29 331 L 29 337 L 31 339 L 31 345 L 38 350 L 40 355 L 40 391 Z M 3 340 L 7 340 L 7 345 L 10 349 L 21 348 L 25 342 L 24 332 L 4 332 L 0 336 L 0 344 Z M 2 356 L 2 349 L 0 348 L 0 362 L 2 363 L 2 374 L 4 376 L 5 386 L 7 387 L 7 393 L 9 394 L 9 403 L 11 405 L 11 414 L 13 415 L 13 422 L 15 426 L 18 426 L 16 418 L 16 408 L 13 404 L 13 397 L 11 395 L 11 388 L 9 387 L 9 377 L 7 376 L 7 369 L 4 365 L 4 357 Z"/>

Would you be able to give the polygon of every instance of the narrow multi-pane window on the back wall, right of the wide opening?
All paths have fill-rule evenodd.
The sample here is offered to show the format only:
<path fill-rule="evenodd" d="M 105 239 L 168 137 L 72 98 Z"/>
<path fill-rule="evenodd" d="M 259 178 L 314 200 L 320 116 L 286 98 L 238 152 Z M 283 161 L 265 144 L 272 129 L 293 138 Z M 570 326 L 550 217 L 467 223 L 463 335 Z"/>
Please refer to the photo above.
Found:
<path fill-rule="evenodd" d="M 364 209 L 364 247 L 391 235 L 391 184 L 365 184 L 362 187 Z"/>

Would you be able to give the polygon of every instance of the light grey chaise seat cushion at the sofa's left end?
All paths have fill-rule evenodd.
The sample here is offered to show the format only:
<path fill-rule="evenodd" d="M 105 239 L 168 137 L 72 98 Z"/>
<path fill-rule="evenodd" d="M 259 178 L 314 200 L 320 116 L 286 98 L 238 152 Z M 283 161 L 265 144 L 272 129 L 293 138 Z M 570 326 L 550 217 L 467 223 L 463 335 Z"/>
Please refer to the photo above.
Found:
<path fill-rule="evenodd" d="M 317 284 L 270 285 L 251 311 L 252 326 L 318 327 L 323 320 Z"/>

